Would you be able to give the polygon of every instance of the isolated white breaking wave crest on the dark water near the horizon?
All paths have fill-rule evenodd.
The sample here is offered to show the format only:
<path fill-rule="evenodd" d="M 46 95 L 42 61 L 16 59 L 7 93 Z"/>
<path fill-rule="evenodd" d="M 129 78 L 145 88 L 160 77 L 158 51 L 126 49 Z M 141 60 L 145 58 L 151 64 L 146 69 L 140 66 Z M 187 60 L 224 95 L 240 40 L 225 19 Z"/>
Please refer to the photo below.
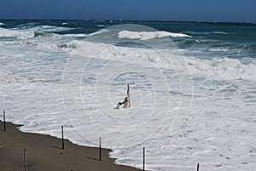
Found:
<path fill-rule="evenodd" d="M 148 39 L 163 38 L 163 37 L 191 37 L 191 36 L 183 33 L 174 33 L 174 32 L 167 32 L 167 31 L 119 31 L 118 37 L 148 40 Z"/>

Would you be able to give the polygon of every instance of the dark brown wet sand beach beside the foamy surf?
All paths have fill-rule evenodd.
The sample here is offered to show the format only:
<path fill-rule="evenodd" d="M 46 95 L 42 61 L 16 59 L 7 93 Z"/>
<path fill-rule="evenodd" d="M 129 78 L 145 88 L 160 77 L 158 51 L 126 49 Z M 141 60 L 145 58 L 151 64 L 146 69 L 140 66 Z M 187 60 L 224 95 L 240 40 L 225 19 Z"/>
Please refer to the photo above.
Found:
<path fill-rule="evenodd" d="M 140 171 L 130 166 L 117 165 L 109 157 L 109 149 L 102 149 L 102 161 L 99 160 L 99 148 L 75 145 L 64 139 L 45 134 L 23 133 L 21 125 L 6 123 L 3 130 L 0 121 L 0 169 L 24 170 L 24 149 L 26 149 L 27 170 L 33 171 Z"/>

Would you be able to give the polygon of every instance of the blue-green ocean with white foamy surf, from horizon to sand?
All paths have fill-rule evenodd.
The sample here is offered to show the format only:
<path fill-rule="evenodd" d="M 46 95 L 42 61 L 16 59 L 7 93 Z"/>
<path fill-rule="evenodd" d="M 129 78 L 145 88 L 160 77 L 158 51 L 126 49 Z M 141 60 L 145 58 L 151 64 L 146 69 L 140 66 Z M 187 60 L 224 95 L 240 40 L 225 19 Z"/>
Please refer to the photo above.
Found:
<path fill-rule="evenodd" d="M 256 25 L 0 20 L 0 109 L 21 131 L 154 171 L 256 168 Z M 115 109 L 130 85 L 131 107 Z"/>

